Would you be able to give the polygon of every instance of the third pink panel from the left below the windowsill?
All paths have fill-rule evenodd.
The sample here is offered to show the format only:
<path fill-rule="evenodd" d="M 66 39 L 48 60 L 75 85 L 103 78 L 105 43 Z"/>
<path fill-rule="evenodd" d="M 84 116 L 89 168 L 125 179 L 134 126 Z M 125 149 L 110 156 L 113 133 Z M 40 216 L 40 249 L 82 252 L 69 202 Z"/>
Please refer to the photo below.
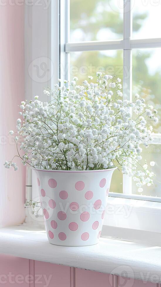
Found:
<path fill-rule="evenodd" d="M 109 274 L 75 269 L 75 287 L 111 287 Z"/>

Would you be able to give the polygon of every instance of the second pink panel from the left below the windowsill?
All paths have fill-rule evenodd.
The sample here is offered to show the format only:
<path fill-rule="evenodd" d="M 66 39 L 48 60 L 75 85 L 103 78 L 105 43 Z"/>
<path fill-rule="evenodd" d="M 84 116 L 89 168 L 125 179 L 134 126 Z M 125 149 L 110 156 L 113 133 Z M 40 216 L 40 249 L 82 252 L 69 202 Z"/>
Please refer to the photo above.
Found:
<path fill-rule="evenodd" d="M 70 267 L 35 261 L 35 287 L 39 286 L 70 287 Z"/>

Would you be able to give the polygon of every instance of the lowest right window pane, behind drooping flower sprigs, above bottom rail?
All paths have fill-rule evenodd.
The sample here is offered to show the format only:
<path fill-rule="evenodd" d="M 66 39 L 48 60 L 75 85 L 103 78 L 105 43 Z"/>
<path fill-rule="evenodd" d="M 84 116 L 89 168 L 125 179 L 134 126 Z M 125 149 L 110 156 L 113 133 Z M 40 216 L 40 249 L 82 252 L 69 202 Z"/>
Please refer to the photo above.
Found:
<path fill-rule="evenodd" d="M 148 149 L 145 148 L 144 146 L 142 146 L 142 149 L 143 149 L 142 160 L 140 160 L 140 164 L 144 165 L 146 160 L 148 166 L 150 166 L 150 162 L 154 161 L 155 166 L 152 167 L 152 171 L 155 173 L 156 176 L 153 178 L 154 184 L 152 186 L 142 186 L 143 188 L 142 193 L 138 192 L 138 187 L 134 183 L 133 194 L 161 197 L 161 182 L 160 182 L 161 145 L 150 144 Z M 148 170 L 150 171 L 150 169 Z"/>

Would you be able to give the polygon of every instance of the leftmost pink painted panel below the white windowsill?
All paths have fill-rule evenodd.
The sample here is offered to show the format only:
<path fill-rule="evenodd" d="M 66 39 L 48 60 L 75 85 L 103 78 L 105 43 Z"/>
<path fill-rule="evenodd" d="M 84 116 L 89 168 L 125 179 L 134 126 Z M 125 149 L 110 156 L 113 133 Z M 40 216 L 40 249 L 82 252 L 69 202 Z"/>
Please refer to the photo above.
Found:
<path fill-rule="evenodd" d="M 30 287 L 29 260 L 0 254 L 0 286 Z"/>

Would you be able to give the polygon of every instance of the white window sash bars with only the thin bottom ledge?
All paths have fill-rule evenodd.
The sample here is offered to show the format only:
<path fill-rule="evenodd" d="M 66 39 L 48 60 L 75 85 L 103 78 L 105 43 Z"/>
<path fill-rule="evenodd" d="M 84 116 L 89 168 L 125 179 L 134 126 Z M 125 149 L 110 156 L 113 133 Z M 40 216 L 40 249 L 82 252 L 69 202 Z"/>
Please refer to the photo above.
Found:
<path fill-rule="evenodd" d="M 156 48 L 161 47 L 161 38 L 157 39 L 138 39 L 133 40 L 132 37 L 132 7 L 131 0 L 124 0 L 123 10 L 123 40 L 113 41 L 91 41 L 91 42 L 75 42 L 70 43 L 70 0 L 60 0 L 60 35 L 61 37 L 61 55 L 60 69 L 61 78 L 69 80 L 70 52 L 84 51 L 102 51 L 102 50 L 123 50 L 123 98 L 132 100 L 132 49 L 136 48 Z M 62 17 L 62 20 L 61 20 Z M 65 19 L 65 21 L 64 21 Z M 63 57 L 62 57 L 63 55 Z M 62 67 L 66 67 L 66 73 Z M 130 71 L 129 77 L 126 71 Z M 154 134 L 153 141 L 149 143 L 160 144 L 161 134 Z M 123 194 L 112 193 L 110 196 L 134 198 L 132 195 L 132 179 L 127 175 L 123 175 Z M 135 199 L 145 199 L 145 196 L 135 195 Z M 161 202 L 160 198 L 146 197 L 146 200 Z"/>

